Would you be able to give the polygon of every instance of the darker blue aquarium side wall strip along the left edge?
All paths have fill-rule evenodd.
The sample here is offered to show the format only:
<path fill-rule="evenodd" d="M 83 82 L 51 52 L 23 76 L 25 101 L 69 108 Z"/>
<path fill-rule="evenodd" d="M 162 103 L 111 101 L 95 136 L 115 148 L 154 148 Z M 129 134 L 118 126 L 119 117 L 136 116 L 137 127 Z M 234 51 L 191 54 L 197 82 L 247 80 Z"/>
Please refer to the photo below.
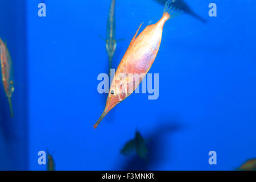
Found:
<path fill-rule="evenodd" d="M 28 84 L 26 1 L 0 1 L 0 38 L 7 43 L 13 60 L 14 118 L 5 90 L 0 86 L 0 170 L 28 169 Z"/>

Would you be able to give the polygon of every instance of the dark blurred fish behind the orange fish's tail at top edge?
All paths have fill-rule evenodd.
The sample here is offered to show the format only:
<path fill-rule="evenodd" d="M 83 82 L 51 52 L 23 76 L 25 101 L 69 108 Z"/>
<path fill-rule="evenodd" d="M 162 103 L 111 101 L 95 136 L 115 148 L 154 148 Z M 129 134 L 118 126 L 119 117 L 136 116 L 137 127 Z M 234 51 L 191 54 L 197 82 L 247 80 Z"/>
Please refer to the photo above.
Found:
<path fill-rule="evenodd" d="M 159 3 L 161 3 L 162 5 L 164 5 L 168 0 L 155 0 Z M 172 5 L 175 7 L 175 9 L 177 10 L 183 10 L 184 13 L 187 13 L 193 17 L 195 17 L 196 19 L 199 19 L 201 22 L 203 23 L 207 23 L 207 20 L 202 18 L 201 16 L 197 15 L 188 5 L 187 3 L 185 3 L 185 1 L 183 0 L 172 0 Z"/>

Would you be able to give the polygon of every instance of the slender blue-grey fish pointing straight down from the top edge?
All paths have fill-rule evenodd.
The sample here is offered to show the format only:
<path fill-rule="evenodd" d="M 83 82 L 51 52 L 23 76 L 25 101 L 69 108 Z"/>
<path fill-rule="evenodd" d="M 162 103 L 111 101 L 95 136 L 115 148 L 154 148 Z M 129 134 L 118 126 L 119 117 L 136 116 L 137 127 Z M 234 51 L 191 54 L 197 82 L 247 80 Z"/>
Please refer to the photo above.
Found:
<path fill-rule="evenodd" d="M 117 42 L 123 40 L 115 40 L 115 0 L 112 0 L 110 4 L 109 9 L 109 16 L 108 16 L 108 22 L 107 22 L 107 32 L 106 32 L 106 39 L 102 38 L 106 43 L 106 51 L 108 52 L 109 57 L 109 75 L 110 75 L 110 69 L 112 68 L 112 60 L 113 55 L 115 52 L 115 48 L 117 48 Z"/>

